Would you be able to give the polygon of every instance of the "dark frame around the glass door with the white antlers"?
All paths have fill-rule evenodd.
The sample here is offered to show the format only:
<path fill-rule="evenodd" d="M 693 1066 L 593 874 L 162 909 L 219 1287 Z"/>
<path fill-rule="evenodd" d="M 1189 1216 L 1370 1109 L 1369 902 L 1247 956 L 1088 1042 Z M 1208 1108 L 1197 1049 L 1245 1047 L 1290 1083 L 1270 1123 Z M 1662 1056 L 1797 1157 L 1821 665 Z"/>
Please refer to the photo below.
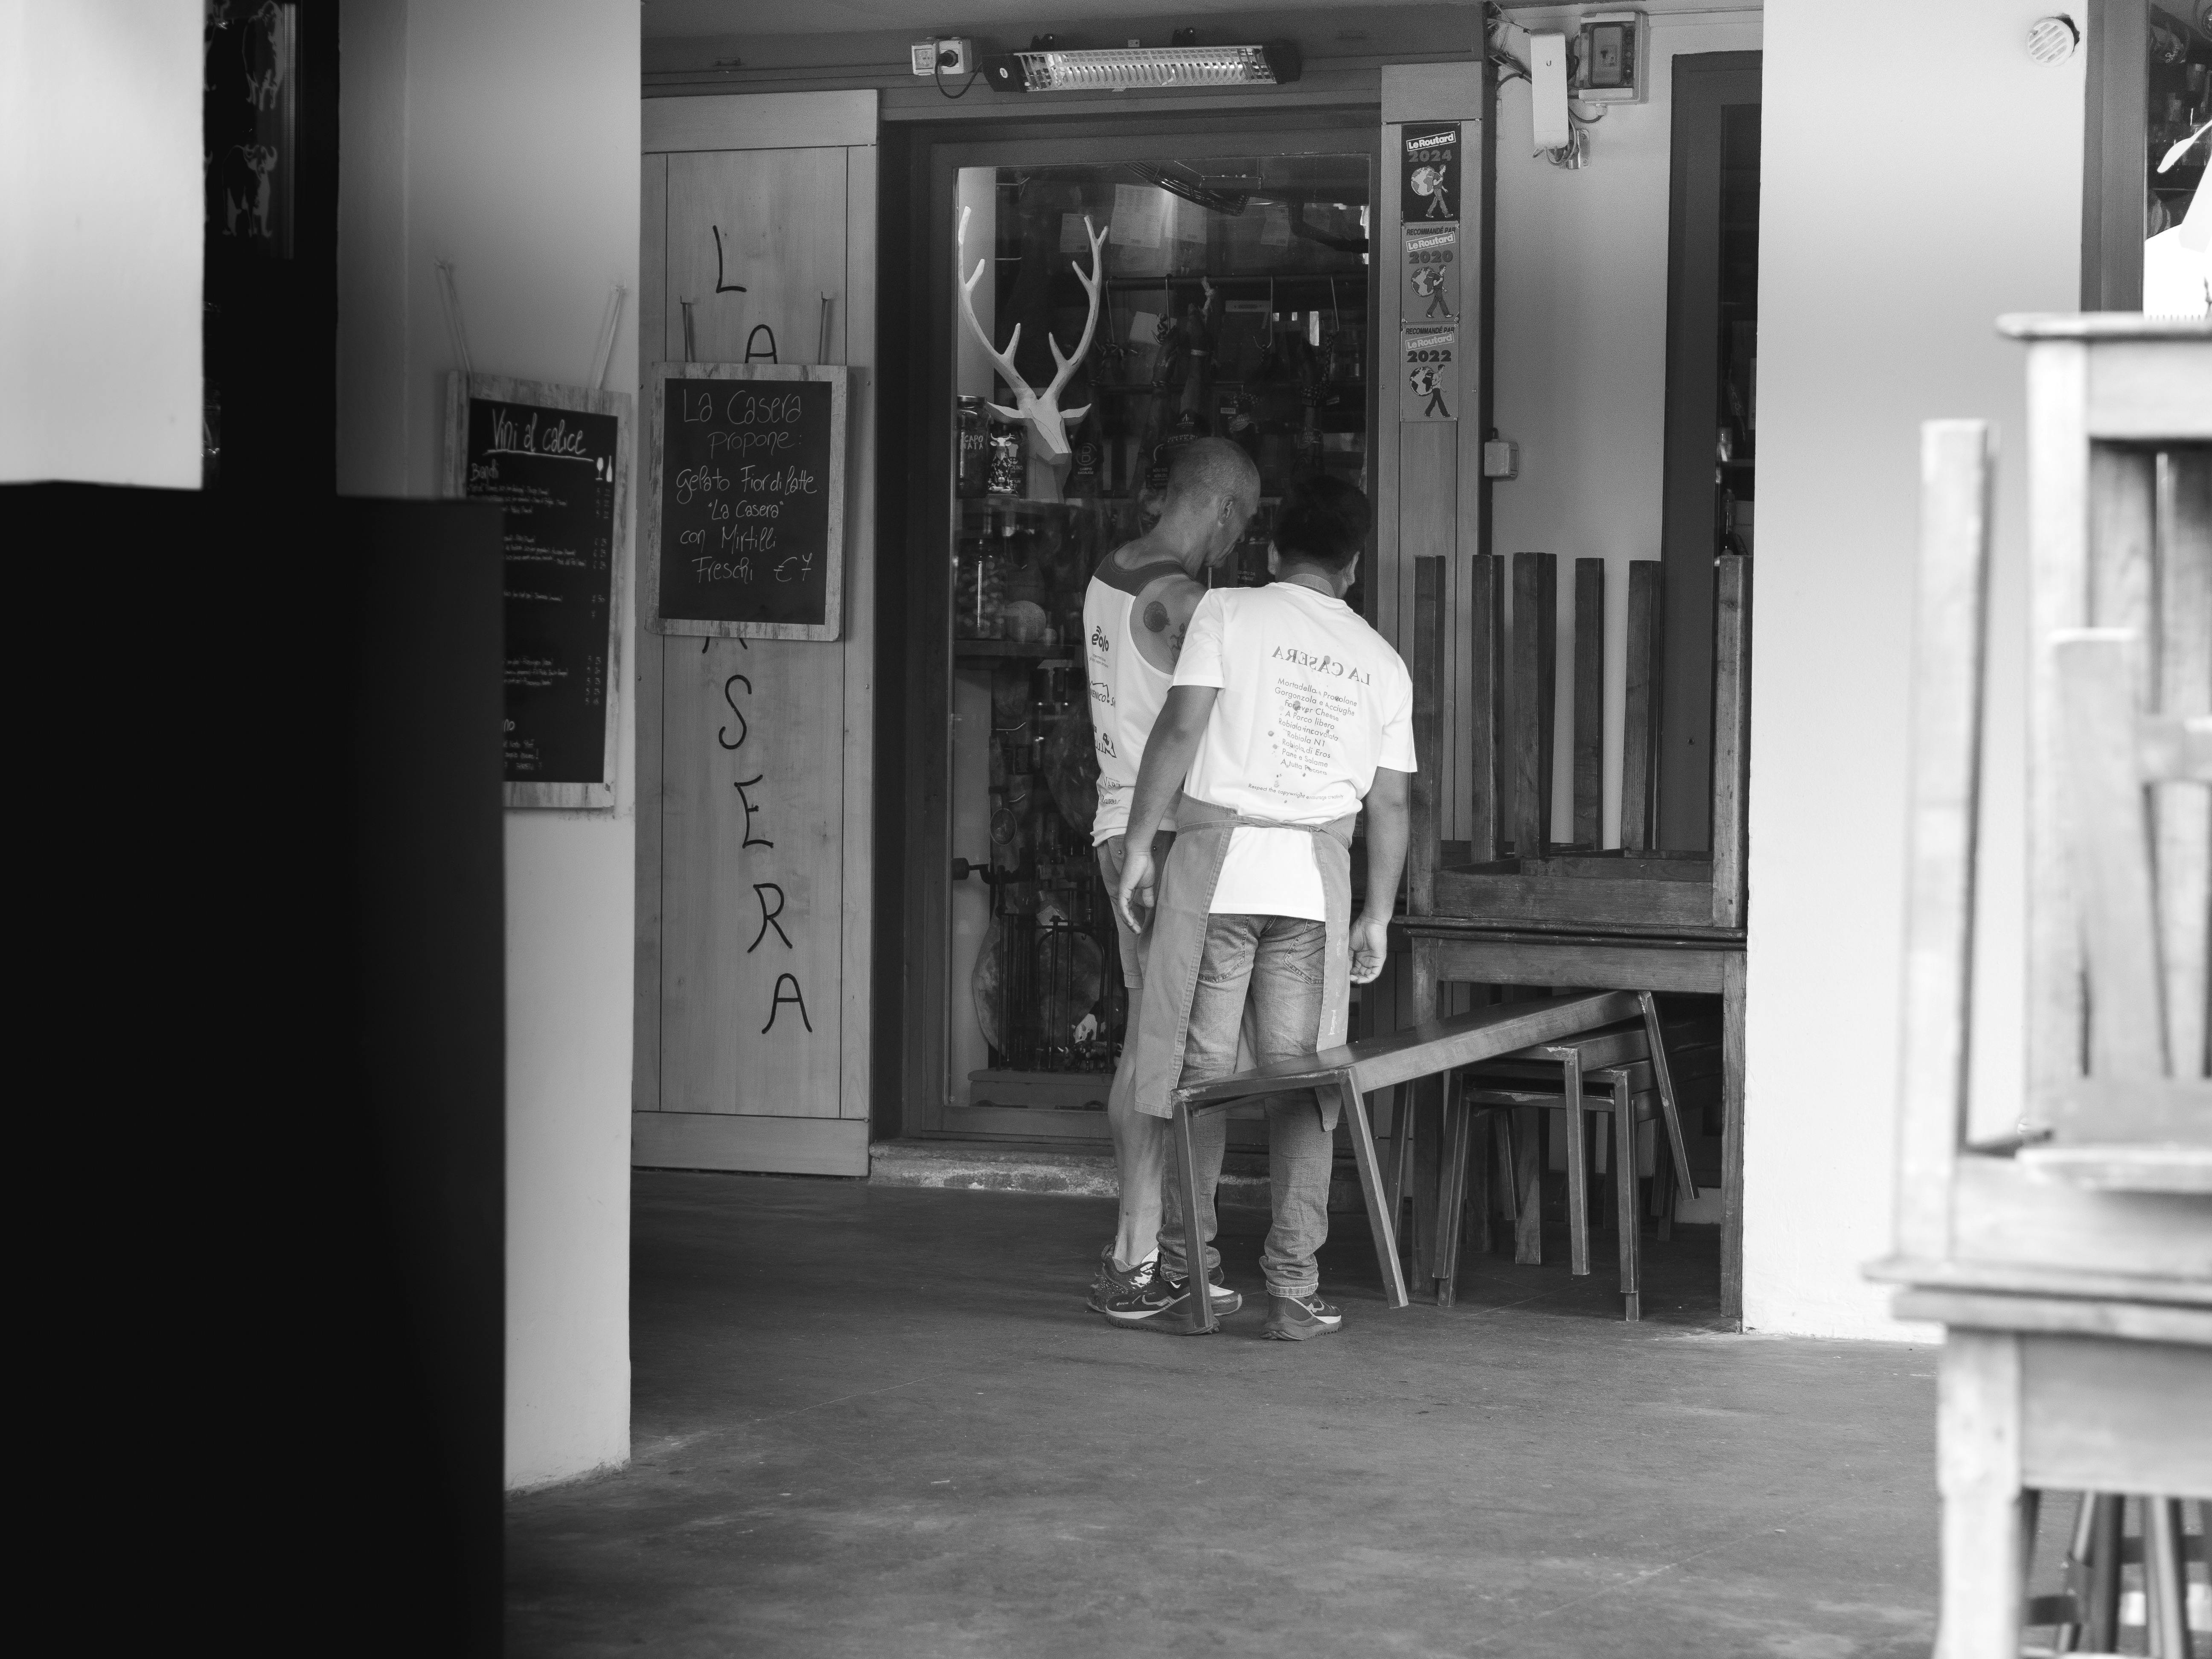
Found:
<path fill-rule="evenodd" d="M 914 133 L 900 159 L 887 157 L 885 181 L 894 177 L 905 188 L 887 188 L 885 201 L 902 199 L 905 212 L 894 208 L 889 217 L 900 223 L 885 226 L 880 248 L 885 274 L 883 336 L 902 338 L 905 352 L 896 369 L 889 369 L 883 385 L 880 427 L 885 451 L 898 451 L 896 478 L 887 465 L 883 478 L 883 522 L 878 524 L 878 549 L 885 564 L 900 566 L 898 595 L 885 582 L 885 615 L 900 617 L 900 626 L 883 628 L 878 661 L 878 686 L 883 688 L 883 741 L 885 757 L 896 754 L 900 776 L 885 794 L 896 796 L 889 812 L 880 812 L 880 845 L 902 845 L 902 858 L 878 860 L 878 905 L 883 916 L 900 920 L 900 938 L 878 945 L 878 962 L 885 978 L 894 964 L 898 973 L 896 991 L 896 1071 L 885 1064 L 878 1079 L 896 1079 L 896 1099 L 885 1099 L 878 1084 L 876 1133 L 902 1133 L 907 1137 L 945 1139 L 1020 1139 L 1020 1141 L 1068 1141 L 1104 1144 L 1106 1124 L 1102 1113 L 1037 1113 L 1022 1108 L 958 1108 L 960 1124 L 951 1126 L 949 1086 L 945 1077 L 951 1048 L 951 998 L 945 962 L 951 947 L 951 894 L 947 872 L 951 869 L 951 582 L 911 580 L 914 573 L 933 573 L 933 560 L 942 557 L 953 535 L 953 487 L 951 487 L 951 407 L 949 400 L 931 396 L 938 385 L 938 369 L 953 361 L 953 228 L 947 215 L 933 204 L 951 199 L 953 179 L 962 166 L 1006 166 L 1018 161 L 1117 161 L 1152 159 L 1161 153 L 1159 139 L 1170 137 L 1183 144 L 1179 155 L 1276 155 L 1276 153 L 1329 153 L 1367 155 L 1371 164 L 1369 190 L 1383 190 L 1383 153 L 1378 104 L 1347 104 L 1325 111 L 1283 111 L 1265 126 L 1256 126 L 1250 113 L 1210 115 L 1192 113 L 1188 119 L 1141 117 L 1108 122 L 989 122 L 958 126 L 936 133 Z M 891 142 L 889 133 L 885 135 Z M 1316 142 L 1325 139 L 1325 142 Z M 1376 215 L 1369 215 L 1376 223 Z M 927 272 L 916 281 L 916 263 Z M 1369 276 L 1369 294 L 1374 294 Z M 905 294 L 905 305 L 898 294 Z M 1369 303 L 1369 363 L 1374 363 L 1378 307 Z M 1374 436 L 1374 398 L 1378 376 L 1369 376 L 1369 436 Z M 940 407 L 940 403 L 945 407 Z M 896 434 L 896 436 L 894 436 Z M 894 639 L 896 635 L 896 639 Z M 898 653 L 902 661 L 891 661 Z M 878 779 L 883 787 L 885 779 Z M 891 827 L 896 823 L 896 827 Z M 887 894 L 885 883 L 898 865 L 902 876 L 900 894 Z M 878 995 L 878 1018 L 887 1011 Z M 889 1060 L 889 1055 L 885 1055 Z M 896 1110 L 896 1117 L 894 1117 Z M 887 1121 L 889 1119 L 889 1121 Z M 1060 1121 L 1071 1119 L 1071 1121 Z M 891 1124 L 896 1121 L 896 1130 Z"/>

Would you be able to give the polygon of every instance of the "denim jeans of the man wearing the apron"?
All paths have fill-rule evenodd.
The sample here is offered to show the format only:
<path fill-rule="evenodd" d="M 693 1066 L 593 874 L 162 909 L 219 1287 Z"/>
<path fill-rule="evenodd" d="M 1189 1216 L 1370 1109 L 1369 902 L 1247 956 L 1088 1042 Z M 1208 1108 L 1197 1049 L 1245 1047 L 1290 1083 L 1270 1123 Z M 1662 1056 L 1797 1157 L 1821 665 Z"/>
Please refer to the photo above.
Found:
<path fill-rule="evenodd" d="M 1237 1071 L 1237 1031 L 1245 1015 L 1245 993 L 1252 1000 L 1252 1040 L 1261 1064 L 1296 1060 L 1314 1053 L 1321 1024 L 1321 969 L 1327 956 L 1327 927 L 1296 916 L 1210 916 L 1206 920 L 1206 956 L 1199 960 L 1199 984 L 1190 998 L 1190 1035 L 1183 1042 L 1183 1075 L 1190 1084 L 1228 1077 Z M 1214 1250 L 1214 1188 L 1221 1183 L 1221 1155 L 1228 1150 L 1228 1115 L 1201 1117 L 1199 1150 L 1199 1237 L 1206 1272 L 1221 1265 Z M 1336 1161 L 1336 1137 L 1321 1126 L 1321 1106 L 1312 1093 L 1267 1099 L 1267 1186 L 1274 1197 L 1274 1223 L 1261 1270 L 1270 1296 L 1312 1296 L 1321 1287 L 1314 1252 L 1329 1237 L 1329 1168 Z M 1177 1279 L 1190 1274 L 1186 1243 L 1179 1159 L 1168 1159 L 1166 1214 L 1159 1228 L 1161 1265 Z"/>

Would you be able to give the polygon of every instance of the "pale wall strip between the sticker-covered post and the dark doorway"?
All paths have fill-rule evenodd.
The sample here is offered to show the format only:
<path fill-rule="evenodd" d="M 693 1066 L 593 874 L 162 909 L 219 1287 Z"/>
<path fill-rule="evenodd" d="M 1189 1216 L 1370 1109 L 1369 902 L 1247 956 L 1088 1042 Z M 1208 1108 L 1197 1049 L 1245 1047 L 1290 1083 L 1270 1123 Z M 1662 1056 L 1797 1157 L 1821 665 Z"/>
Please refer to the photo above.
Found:
<path fill-rule="evenodd" d="M 1571 9 L 1513 11 L 1564 29 Z M 1533 155 L 1528 84 L 1498 97 L 1498 341 L 1493 420 L 1522 447 L 1520 478 L 1491 489 L 1491 546 L 1606 560 L 1608 847 L 1621 830 L 1621 697 L 1628 681 L 1628 560 L 1659 557 L 1666 451 L 1668 146 L 1677 53 L 1756 51 L 1759 11 L 1652 18 L 1650 102 L 1615 104 L 1590 128 L 1590 164 Z M 1761 489 L 1765 478 L 1761 476 Z M 1765 509 L 1761 509 L 1765 511 Z M 1763 524 L 1761 524 L 1763 533 Z M 1573 573 L 1559 599 L 1559 728 L 1553 821 L 1573 821 Z"/>

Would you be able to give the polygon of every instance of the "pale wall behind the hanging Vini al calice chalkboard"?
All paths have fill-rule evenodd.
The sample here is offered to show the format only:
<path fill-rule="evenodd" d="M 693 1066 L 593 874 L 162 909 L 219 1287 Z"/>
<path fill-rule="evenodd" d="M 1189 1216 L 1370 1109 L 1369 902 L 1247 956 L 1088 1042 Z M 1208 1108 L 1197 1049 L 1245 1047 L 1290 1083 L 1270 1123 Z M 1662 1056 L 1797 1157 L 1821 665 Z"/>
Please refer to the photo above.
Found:
<path fill-rule="evenodd" d="M 453 367 L 637 389 L 637 0 L 347 0 L 338 223 L 338 489 L 436 495 Z M 633 500 L 635 500 L 633 480 Z M 635 648 L 624 595 L 624 653 Z M 628 684 L 628 661 L 611 684 Z M 630 1449 L 635 710 L 613 812 L 507 816 L 507 1480 Z"/>

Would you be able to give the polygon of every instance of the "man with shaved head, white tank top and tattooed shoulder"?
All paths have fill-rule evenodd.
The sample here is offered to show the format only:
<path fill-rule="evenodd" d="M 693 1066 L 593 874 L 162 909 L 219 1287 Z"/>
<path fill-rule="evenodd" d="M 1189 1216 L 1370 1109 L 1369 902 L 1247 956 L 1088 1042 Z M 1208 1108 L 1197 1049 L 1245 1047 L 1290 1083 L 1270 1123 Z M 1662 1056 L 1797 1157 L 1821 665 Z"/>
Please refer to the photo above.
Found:
<path fill-rule="evenodd" d="M 1084 593 L 1084 653 L 1091 664 L 1091 732 L 1099 757 L 1099 810 L 1091 821 L 1106 891 L 1121 883 L 1130 792 L 1144 745 L 1175 679 L 1190 613 L 1206 597 L 1199 577 L 1228 560 L 1259 511 L 1259 467 L 1225 438 L 1183 445 L 1168 467 L 1159 522 L 1099 560 Z M 1175 814 L 1161 818 L 1146 863 L 1164 863 L 1175 843 Z M 1121 978 L 1128 982 L 1128 1029 L 1106 1095 L 1106 1124 L 1121 1177 L 1121 1223 L 1099 1254 L 1091 1307 L 1117 1325 L 1172 1329 L 1161 1318 L 1188 1287 L 1157 1270 L 1161 1179 L 1168 1172 L 1168 1124 L 1135 1108 L 1130 1064 L 1137 1053 L 1137 1009 L 1144 1002 L 1144 940 L 1115 907 Z M 1234 1314 L 1239 1296 L 1212 1290 L 1214 1312 Z"/>

